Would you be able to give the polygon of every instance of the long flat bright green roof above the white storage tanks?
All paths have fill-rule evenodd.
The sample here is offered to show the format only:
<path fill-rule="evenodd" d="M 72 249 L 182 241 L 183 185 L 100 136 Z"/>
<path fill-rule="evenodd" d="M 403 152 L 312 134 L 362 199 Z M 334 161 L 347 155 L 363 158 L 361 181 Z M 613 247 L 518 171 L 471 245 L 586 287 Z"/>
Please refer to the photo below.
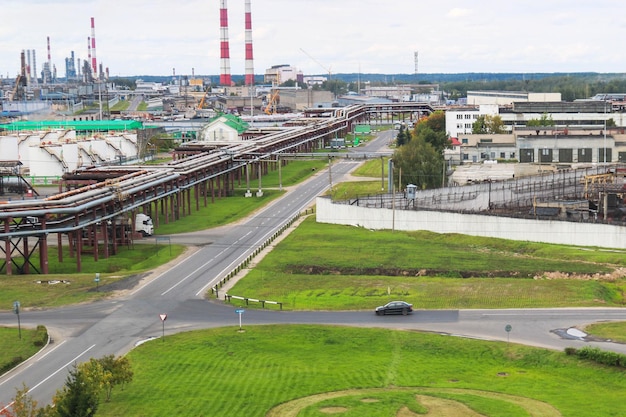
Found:
<path fill-rule="evenodd" d="M 109 131 L 143 129 L 136 120 L 21 120 L 0 124 L 0 130 L 49 130 L 71 129 L 76 131 Z"/>

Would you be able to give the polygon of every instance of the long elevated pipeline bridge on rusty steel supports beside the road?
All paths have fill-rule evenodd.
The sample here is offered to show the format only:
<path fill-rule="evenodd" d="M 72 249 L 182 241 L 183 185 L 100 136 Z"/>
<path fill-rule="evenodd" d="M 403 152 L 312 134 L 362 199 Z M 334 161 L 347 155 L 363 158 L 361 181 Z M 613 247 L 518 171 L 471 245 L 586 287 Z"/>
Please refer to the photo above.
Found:
<path fill-rule="evenodd" d="M 351 132 L 355 124 L 416 120 L 433 111 L 428 103 L 311 109 L 289 128 L 258 137 L 244 133 L 247 140 L 241 142 L 186 143 L 174 150 L 171 162 L 161 165 L 93 166 L 67 173 L 61 183 L 64 192 L 0 204 L 0 273 L 48 274 L 48 244 L 55 236 L 59 262 L 65 243 L 76 272 L 81 272 L 83 253 L 92 253 L 97 261 L 132 242 L 137 213 L 151 216 L 158 228 L 154 214 L 160 213 L 165 223 L 190 215 L 209 199 L 232 195 L 235 184 L 247 181 L 249 187 L 251 173 L 260 178 L 289 159 L 319 155 L 314 152 Z M 332 154 L 338 156 L 342 154 Z"/>

